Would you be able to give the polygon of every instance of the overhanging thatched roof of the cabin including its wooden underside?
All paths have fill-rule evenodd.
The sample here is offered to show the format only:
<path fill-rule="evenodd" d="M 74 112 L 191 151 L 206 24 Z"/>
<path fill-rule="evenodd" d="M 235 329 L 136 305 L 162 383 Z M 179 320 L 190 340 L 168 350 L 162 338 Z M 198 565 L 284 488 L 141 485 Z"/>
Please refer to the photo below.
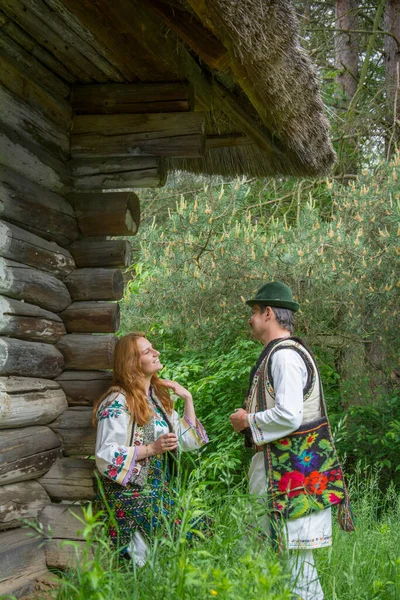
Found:
<path fill-rule="evenodd" d="M 4 0 L 0 18 L 10 44 L 67 86 L 188 81 L 205 154 L 168 158 L 170 170 L 313 176 L 334 162 L 288 0 Z"/>

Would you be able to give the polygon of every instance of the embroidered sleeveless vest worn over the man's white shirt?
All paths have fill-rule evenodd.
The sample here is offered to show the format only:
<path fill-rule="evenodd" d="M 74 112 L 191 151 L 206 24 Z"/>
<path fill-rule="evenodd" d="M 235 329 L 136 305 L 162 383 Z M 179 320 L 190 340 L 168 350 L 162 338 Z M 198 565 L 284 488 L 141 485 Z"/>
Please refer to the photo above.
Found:
<path fill-rule="evenodd" d="M 303 359 L 307 369 L 307 382 L 303 389 L 304 404 L 303 404 L 303 420 L 302 425 L 317 419 L 321 416 L 321 397 L 320 397 L 320 385 L 319 385 L 319 374 L 315 367 L 315 363 L 311 358 L 309 351 L 300 343 L 297 338 L 286 338 L 278 341 L 274 344 L 261 362 L 258 367 L 253 381 L 250 387 L 249 395 L 246 400 L 246 410 L 250 413 L 259 412 L 257 403 L 257 391 L 260 382 L 260 373 L 264 372 L 265 378 L 265 392 L 267 408 L 273 408 L 275 406 L 275 391 L 272 379 L 272 357 L 275 352 L 282 351 L 284 349 L 290 349 L 297 352 Z"/>

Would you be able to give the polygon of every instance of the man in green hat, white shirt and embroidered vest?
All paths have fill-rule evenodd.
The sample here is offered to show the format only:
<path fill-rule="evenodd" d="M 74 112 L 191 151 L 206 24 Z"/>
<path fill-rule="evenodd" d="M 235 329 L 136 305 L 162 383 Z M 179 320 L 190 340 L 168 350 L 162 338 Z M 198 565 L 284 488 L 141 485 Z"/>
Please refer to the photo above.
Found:
<path fill-rule="evenodd" d="M 254 450 L 249 472 L 250 493 L 265 499 L 269 482 L 265 462 L 268 455 L 264 448 L 279 440 L 284 448 L 291 443 L 287 436 L 321 416 L 319 374 L 310 351 L 301 340 L 292 337 L 293 317 L 299 305 L 287 285 L 280 281 L 266 283 L 247 304 L 252 309 L 249 325 L 253 337 L 264 348 L 251 371 L 245 404 L 235 410 L 230 420 L 233 429 L 244 433 L 246 445 Z M 260 410 L 261 402 L 263 409 Z M 272 451 L 274 447 L 268 446 Z M 299 458 L 298 469 L 288 474 L 291 479 L 285 494 L 292 500 L 298 500 L 305 477 L 312 477 L 312 461 L 311 453 L 305 453 Z M 272 537 L 273 522 L 276 534 L 277 521 L 269 519 L 267 514 L 260 523 Z M 281 518 L 281 532 L 282 525 L 281 542 L 283 538 L 289 550 L 292 591 L 303 600 L 322 600 L 324 594 L 314 566 L 313 550 L 332 543 L 331 509 L 324 508 L 299 518 Z"/>

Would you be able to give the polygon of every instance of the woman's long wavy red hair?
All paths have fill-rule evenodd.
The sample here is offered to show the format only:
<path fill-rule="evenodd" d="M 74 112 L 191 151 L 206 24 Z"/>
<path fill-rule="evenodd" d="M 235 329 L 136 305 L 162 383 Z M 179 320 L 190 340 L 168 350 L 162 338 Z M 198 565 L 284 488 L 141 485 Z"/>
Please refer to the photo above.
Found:
<path fill-rule="evenodd" d="M 153 413 L 146 398 L 145 377 L 140 368 L 140 350 L 137 342 L 141 337 L 146 338 L 144 333 L 128 333 L 118 340 L 114 350 L 113 382 L 94 403 L 93 425 L 97 424 L 96 413 L 100 404 L 113 392 L 122 392 L 125 395 L 131 417 L 138 425 L 145 425 L 152 417 Z M 166 412 L 171 414 L 172 400 L 169 391 L 161 385 L 156 373 L 151 378 L 151 385 Z"/>

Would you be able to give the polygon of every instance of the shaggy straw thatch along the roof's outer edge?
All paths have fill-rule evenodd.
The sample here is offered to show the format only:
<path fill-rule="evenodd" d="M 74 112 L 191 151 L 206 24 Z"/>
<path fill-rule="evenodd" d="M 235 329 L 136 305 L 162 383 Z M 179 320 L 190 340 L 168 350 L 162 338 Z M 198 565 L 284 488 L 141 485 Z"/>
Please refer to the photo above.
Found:
<path fill-rule="evenodd" d="M 234 174 L 238 165 L 249 175 L 327 173 L 335 159 L 329 123 L 291 4 L 204 0 L 201 5 L 197 16 L 228 49 L 234 93 L 245 105 L 251 102 L 260 126 L 271 133 L 276 152 L 266 153 L 257 146 L 215 149 L 204 159 L 170 161 L 171 167 L 222 175 Z M 219 77 L 215 71 L 213 75 Z"/>

